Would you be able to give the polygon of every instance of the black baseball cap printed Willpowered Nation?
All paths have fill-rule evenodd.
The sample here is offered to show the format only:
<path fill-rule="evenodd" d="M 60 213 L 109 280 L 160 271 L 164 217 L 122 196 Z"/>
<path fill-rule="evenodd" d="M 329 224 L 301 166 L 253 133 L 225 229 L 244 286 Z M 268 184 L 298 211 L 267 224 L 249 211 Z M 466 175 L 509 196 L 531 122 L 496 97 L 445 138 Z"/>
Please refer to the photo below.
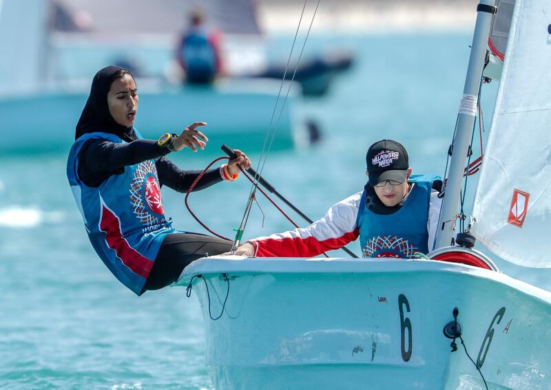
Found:
<path fill-rule="evenodd" d="M 408 177 L 408 152 L 404 145 L 393 140 L 381 140 L 371 145 L 367 150 L 366 164 L 371 186 L 383 180 L 403 183 Z"/>

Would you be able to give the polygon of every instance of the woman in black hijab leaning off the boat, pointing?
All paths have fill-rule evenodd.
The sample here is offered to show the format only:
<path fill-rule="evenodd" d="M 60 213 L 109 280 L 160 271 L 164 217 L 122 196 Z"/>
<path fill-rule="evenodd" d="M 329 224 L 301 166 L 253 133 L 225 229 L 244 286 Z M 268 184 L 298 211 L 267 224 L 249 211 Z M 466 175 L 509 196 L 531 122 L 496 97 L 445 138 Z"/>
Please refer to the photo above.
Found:
<path fill-rule="evenodd" d="M 208 140 L 197 128 L 206 123 L 145 140 L 134 129 L 138 101 L 127 69 L 109 66 L 94 76 L 76 124 L 67 178 L 94 250 L 121 283 L 141 295 L 173 283 L 206 253 L 226 252 L 231 241 L 175 230 L 163 209 L 162 186 L 185 193 L 200 174 L 179 169 L 167 155 L 204 149 Z M 247 169 L 247 155 L 234 152 L 237 158 L 207 171 L 195 189 L 233 181 L 239 166 Z"/>

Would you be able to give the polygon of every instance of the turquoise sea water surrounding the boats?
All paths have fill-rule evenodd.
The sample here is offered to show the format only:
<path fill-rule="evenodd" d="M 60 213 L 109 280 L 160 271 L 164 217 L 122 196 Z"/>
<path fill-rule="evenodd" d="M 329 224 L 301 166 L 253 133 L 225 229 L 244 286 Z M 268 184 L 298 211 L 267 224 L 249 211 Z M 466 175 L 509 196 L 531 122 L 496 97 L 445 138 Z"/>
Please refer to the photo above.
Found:
<path fill-rule="evenodd" d="M 284 54 L 291 40 L 278 37 L 272 44 L 275 54 Z M 444 173 L 470 34 L 313 36 L 308 49 L 329 44 L 349 47 L 357 62 L 329 96 L 305 102 L 324 141 L 273 153 L 264 169 L 264 177 L 311 218 L 360 191 L 364 153 L 380 138 L 401 140 L 415 171 Z M 482 100 L 487 125 L 494 84 Z M 185 151 L 173 160 L 200 169 L 214 155 Z M 211 389 L 198 301 L 187 299 L 183 288 L 138 298 L 112 277 L 85 235 L 65 159 L 65 153 L 0 157 L 0 388 Z M 191 195 L 190 204 L 214 230 L 231 235 L 248 190 L 242 179 L 222 183 Z M 163 190 L 163 202 L 177 228 L 204 231 L 182 195 Z M 289 228 L 267 202 L 260 205 L 264 226 L 255 208 L 245 238 Z M 350 248 L 359 252 L 356 246 Z M 499 266 L 551 289 L 550 272 Z"/>

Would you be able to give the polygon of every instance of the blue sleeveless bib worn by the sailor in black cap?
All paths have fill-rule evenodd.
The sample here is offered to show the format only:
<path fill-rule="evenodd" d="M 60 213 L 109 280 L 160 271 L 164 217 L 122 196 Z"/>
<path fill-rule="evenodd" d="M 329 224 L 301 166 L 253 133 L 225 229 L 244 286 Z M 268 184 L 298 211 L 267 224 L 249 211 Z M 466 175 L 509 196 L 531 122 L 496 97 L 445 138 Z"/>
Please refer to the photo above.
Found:
<path fill-rule="evenodd" d="M 366 207 L 366 190 L 362 194 L 356 225 L 364 257 L 408 259 L 415 252 L 428 253 L 428 207 L 433 175 L 411 175 L 415 183 L 406 202 L 395 213 L 381 215 Z M 377 196 L 377 195 L 374 195 Z"/>

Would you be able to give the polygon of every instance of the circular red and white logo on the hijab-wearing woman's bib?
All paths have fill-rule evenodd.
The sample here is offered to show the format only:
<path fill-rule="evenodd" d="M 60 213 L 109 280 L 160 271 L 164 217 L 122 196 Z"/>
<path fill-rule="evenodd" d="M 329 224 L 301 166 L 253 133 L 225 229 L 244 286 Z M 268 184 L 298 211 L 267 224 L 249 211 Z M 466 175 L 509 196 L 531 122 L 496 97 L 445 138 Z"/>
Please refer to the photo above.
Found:
<path fill-rule="evenodd" d="M 134 215 L 141 223 L 152 226 L 164 221 L 165 210 L 153 160 L 138 164 L 130 184 L 130 204 Z"/>

